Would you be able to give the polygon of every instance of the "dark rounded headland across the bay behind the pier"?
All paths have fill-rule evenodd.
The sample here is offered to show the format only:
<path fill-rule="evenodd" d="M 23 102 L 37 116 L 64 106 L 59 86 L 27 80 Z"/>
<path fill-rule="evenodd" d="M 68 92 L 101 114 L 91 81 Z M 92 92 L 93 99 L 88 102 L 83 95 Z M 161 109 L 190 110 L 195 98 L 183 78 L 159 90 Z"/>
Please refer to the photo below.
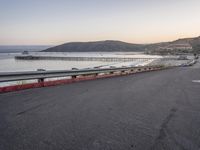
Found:
<path fill-rule="evenodd" d="M 144 45 L 121 41 L 72 42 L 55 46 L 44 52 L 141 52 Z"/>

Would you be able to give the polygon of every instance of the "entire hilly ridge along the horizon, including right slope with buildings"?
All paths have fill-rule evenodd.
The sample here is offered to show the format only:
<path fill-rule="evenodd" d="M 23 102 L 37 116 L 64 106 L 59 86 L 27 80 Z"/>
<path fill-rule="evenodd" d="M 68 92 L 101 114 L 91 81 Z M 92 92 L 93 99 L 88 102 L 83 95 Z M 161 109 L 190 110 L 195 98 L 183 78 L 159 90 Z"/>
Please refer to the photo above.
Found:
<path fill-rule="evenodd" d="M 122 41 L 71 42 L 43 52 L 146 52 L 149 54 L 199 53 L 200 37 L 155 44 L 132 44 Z"/>

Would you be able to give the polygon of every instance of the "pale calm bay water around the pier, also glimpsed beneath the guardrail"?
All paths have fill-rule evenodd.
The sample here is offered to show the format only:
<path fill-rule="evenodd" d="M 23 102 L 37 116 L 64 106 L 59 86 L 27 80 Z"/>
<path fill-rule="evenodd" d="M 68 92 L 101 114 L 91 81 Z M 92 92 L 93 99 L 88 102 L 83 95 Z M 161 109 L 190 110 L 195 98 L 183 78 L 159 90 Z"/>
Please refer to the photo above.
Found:
<path fill-rule="evenodd" d="M 67 61 L 67 60 L 17 60 L 16 55 L 22 55 L 21 53 L 0 53 L 0 73 L 2 72 L 21 72 L 21 71 L 37 71 L 37 69 L 45 70 L 71 70 L 72 68 L 86 69 L 86 68 L 109 68 L 111 66 L 122 67 L 122 66 L 138 66 L 146 65 L 153 60 L 157 59 L 158 56 L 146 56 L 141 54 L 133 53 L 40 53 L 40 52 L 29 52 L 31 55 L 42 55 L 42 56 L 61 56 L 61 57 L 144 57 L 152 58 L 148 61 L 131 61 L 131 62 L 104 62 L 104 61 Z M 52 79 L 48 79 L 52 80 Z M 53 79 L 55 80 L 55 79 Z M 24 84 L 36 82 L 31 81 L 16 81 L 0 83 L 0 87 Z"/>

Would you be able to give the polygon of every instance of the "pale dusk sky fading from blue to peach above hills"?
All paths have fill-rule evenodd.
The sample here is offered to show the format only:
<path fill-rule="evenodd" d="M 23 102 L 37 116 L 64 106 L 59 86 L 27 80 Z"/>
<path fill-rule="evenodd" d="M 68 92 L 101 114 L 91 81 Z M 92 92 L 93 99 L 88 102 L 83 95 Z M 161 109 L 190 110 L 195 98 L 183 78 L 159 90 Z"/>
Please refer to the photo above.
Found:
<path fill-rule="evenodd" d="M 0 45 L 200 36 L 200 0 L 0 0 Z"/>

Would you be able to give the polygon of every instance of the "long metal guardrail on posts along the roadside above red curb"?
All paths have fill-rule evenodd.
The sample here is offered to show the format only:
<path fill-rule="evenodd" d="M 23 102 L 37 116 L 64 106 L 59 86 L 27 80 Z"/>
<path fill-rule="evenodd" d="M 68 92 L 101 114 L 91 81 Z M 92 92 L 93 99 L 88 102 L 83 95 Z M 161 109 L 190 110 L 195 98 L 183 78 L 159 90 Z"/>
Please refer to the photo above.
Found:
<path fill-rule="evenodd" d="M 113 74 L 115 72 L 126 71 L 148 71 L 160 69 L 162 66 L 145 66 L 145 67 L 122 67 L 122 68 L 105 68 L 105 69 L 82 69 L 82 70 L 58 70 L 58 71 L 28 71 L 28 72 L 5 72 L 0 73 L 0 82 L 20 81 L 20 80 L 33 80 L 37 79 L 38 82 L 43 82 L 47 78 L 69 77 L 76 78 L 81 75 L 98 75 L 100 73 Z"/>

